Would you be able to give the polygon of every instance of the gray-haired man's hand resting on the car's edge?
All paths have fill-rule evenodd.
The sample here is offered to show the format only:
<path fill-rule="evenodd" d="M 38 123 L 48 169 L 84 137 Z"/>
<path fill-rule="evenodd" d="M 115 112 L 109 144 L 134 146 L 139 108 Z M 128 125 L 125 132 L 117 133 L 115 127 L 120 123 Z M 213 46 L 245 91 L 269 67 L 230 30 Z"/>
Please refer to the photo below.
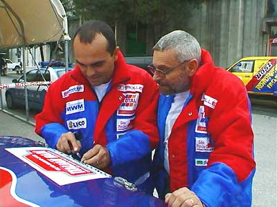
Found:
<path fill-rule="evenodd" d="M 166 203 L 170 207 L 202 207 L 202 202 L 197 195 L 188 188 L 179 188 L 166 195 Z"/>

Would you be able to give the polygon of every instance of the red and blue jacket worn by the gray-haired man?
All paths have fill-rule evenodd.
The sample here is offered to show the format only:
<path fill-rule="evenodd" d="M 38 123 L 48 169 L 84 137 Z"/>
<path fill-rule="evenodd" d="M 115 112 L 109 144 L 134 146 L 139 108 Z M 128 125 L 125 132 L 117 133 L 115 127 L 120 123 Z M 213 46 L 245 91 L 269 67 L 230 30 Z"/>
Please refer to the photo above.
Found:
<path fill-rule="evenodd" d="M 174 95 L 159 98 L 160 142 L 154 155 L 155 186 L 159 196 L 167 188 L 193 190 L 208 207 L 251 206 L 255 172 L 253 131 L 247 91 L 238 77 L 216 68 L 202 50 L 202 66 L 195 73 L 190 95 L 168 140 L 170 175 L 164 169 L 166 116 Z"/>

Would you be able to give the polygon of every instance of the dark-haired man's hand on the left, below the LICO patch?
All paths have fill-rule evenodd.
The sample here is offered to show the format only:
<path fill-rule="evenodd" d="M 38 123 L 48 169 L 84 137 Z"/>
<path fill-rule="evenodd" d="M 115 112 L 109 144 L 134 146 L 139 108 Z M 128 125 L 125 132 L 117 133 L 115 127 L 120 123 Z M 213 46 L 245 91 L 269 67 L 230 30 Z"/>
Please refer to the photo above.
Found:
<path fill-rule="evenodd" d="M 73 132 L 66 132 L 57 141 L 56 148 L 66 154 L 77 153 L 81 149 L 81 143 L 75 139 Z"/>

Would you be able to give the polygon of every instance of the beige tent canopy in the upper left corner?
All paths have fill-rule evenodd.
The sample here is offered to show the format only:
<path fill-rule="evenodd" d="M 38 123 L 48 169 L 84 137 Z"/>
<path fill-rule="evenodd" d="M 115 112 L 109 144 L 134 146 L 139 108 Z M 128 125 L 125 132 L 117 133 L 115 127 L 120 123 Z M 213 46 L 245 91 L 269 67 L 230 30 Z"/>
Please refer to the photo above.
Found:
<path fill-rule="evenodd" d="M 22 46 L 22 34 L 25 45 L 69 40 L 62 3 L 59 0 L 0 0 L 0 48 Z"/>

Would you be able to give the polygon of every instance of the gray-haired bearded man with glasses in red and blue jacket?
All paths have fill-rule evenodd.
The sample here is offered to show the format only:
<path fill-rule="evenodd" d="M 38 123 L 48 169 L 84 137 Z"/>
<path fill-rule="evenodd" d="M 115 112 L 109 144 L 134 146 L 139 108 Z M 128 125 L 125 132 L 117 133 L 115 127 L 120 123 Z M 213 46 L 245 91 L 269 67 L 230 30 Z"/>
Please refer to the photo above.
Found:
<path fill-rule="evenodd" d="M 166 34 L 148 69 L 159 85 L 155 187 L 169 206 L 251 206 L 255 172 L 247 90 L 187 32 Z"/>

